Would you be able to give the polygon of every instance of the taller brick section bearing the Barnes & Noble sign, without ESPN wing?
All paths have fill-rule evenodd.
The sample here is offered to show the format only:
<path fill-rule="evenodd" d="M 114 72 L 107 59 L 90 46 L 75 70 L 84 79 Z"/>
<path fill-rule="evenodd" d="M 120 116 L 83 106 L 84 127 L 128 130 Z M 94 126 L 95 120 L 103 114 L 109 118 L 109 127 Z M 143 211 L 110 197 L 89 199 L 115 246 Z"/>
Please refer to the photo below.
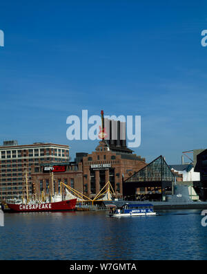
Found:
<path fill-rule="evenodd" d="M 123 181 L 146 166 L 145 158 L 126 147 L 99 142 L 95 152 L 83 157 L 83 194 L 92 198 L 110 181 L 117 197 L 123 196 Z"/>

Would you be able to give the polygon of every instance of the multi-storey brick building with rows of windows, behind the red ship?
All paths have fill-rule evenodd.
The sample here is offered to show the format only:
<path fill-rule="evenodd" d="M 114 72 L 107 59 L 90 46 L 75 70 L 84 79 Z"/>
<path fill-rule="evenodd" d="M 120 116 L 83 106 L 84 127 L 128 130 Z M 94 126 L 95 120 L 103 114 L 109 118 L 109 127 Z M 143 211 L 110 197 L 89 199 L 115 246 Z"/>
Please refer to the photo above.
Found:
<path fill-rule="evenodd" d="M 17 141 L 5 141 L 0 146 L 0 200 L 32 194 L 32 170 L 38 172 L 43 163 L 69 161 L 68 145 L 34 143 L 18 145 Z"/>

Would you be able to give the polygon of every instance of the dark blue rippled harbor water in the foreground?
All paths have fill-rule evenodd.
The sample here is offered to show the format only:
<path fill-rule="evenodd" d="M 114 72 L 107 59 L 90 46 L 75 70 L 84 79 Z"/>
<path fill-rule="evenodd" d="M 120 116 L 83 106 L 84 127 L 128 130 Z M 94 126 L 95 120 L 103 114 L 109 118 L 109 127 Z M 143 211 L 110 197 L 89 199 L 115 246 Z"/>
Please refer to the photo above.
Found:
<path fill-rule="evenodd" d="M 4 214 L 0 259 L 207 259 L 201 210 L 156 217 L 107 217 L 107 212 Z"/>

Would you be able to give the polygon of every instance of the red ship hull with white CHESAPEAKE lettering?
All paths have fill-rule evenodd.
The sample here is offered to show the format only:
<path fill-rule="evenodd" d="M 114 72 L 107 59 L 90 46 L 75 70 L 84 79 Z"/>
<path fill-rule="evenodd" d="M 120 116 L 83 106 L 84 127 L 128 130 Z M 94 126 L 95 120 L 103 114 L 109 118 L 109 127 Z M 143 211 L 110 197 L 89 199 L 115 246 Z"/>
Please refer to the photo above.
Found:
<path fill-rule="evenodd" d="M 75 210 L 77 199 L 59 201 L 55 203 L 38 203 L 34 205 L 8 203 L 10 210 L 14 212 L 47 212 L 47 211 L 63 211 Z"/>

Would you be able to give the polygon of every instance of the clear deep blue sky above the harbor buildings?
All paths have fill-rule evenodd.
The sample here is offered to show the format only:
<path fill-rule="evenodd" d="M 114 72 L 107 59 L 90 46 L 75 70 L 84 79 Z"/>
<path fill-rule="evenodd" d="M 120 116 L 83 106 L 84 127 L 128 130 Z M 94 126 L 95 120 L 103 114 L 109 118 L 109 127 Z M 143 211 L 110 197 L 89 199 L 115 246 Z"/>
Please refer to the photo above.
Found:
<path fill-rule="evenodd" d="M 141 146 L 160 154 L 207 147 L 205 1 L 4 1 L 0 3 L 1 131 L 19 144 L 69 141 L 66 118 L 140 115 Z"/>

